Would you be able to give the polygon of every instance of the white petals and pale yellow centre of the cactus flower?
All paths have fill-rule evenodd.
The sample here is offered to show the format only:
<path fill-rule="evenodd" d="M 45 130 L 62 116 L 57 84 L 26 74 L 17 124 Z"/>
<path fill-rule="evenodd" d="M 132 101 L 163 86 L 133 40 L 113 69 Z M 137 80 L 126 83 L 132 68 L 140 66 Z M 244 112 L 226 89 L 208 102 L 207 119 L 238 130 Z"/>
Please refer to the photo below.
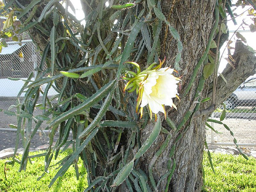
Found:
<path fill-rule="evenodd" d="M 143 81 L 143 93 L 140 107 L 148 104 L 150 110 L 157 114 L 162 112 L 166 115 L 164 105 L 176 106 L 174 97 L 178 95 L 177 83 L 179 80 L 172 75 L 173 69 L 161 68 L 147 72 L 147 78 Z"/>

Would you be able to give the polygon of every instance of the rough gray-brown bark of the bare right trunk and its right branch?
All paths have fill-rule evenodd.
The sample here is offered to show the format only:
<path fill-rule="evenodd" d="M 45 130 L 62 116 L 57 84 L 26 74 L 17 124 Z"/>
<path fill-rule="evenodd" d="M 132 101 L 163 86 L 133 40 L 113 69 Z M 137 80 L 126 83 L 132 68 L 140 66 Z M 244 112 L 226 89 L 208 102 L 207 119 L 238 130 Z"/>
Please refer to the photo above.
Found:
<path fill-rule="evenodd" d="M 183 96 L 183 93 L 199 58 L 203 55 L 204 41 L 206 44 L 208 42 L 209 33 L 215 22 L 213 16 L 214 6 L 215 1 L 179 1 L 178 3 L 175 3 L 175 1 L 164 1 L 162 3 L 162 9 L 163 12 L 165 12 L 166 18 L 169 18 L 168 21 L 170 24 L 175 26 L 179 32 L 183 44 L 182 61 L 180 62 L 182 70 L 179 71 L 180 76 L 182 76 L 182 86 L 179 91 L 181 101 L 176 102 L 178 103 L 178 110 L 172 110 L 169 113 L 169 117 L 176 125 L 184 118 L 187 110 L 195 108 L 194 97 L 203 68 L 199 69 L 196 81 L 191 87 L 189 94 Z M 172 39 L 172 36 L 165 36 L 166 30 L 166 28 L 162 30 L 162 54 L 167 57 L 167 66 L 172 66 L 177 51 L 176 42 Z M 201 191 L 203 184 L 202 159 L 205 141 L 205 121 L 208 119 L 211 112 L 225 101 L 239 84 L 248 76 L 254 74 L 256 68 L 256 58 L 254 54 L 249 52 L 248 48 L 246 48 L 241 41 L 236 44 L 236 51 L 233 58 L 236 61 L 236 63 L 234 63 L 236 69 L 227 66 L 223 72 L 224 77 L 227 79 L 227 84 L 221 77 L 218 78 L 216 105 L 210 106 L 210 103 L 200 105 L 198 113 L 195 114 L 195 116 L 191 116 L 190 119 L 186 119 L 187 123 L 185 123 L 178 134 L 170 130 L 172 140 L 166 147 L 165 152 L 158 158 L 153 171 L 156 181 L 166 173 L 169 152 L 175 144 L 175 140 L 182 135 L 176 143 L 174 153 L 176 169 L 168 191 Z M 211 97 L 212 87 L 210 87 L 210 89 L 208 87 L 208 84 L 211 83 L 210 80 L 206 81 L 201 93 L 201 98 Z M 145 130 L 142 131 L 141 136 L 145 135 L 145 132 L 150 132 L 151 129 L 151 126 L 147 126 Z M 168 127 L 166 127 L 166 129 L 168 129 Z M 148 150 L 143 159 L 145 166 L 150 164 L 151 159 L 160 144 L 164 141 L 164 138 L 164 134 L 161 134 L 155 145 Z M 161 182 L 158 191 L 164 191 L 165 185 L 166 180 Z"/>

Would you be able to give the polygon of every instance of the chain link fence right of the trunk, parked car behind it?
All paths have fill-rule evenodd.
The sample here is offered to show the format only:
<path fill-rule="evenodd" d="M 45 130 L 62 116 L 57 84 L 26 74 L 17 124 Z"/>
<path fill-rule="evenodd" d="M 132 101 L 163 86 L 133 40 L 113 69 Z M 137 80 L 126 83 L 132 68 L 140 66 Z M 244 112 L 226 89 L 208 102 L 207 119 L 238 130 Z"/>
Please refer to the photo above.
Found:
<path fill-rule="evenodd" d="M 234 145 L 234 138 L 240 146 L 256 147 L 256 76 L 249 77 L 236 91 L 224 102 L 226 117 L 223 124 L 211 123 L 219 133 L 212 130 L 206 131 L 208 144 Z M 224 106 L 221 105 L 212 114 L 211 119 L 220 120 Z"/>

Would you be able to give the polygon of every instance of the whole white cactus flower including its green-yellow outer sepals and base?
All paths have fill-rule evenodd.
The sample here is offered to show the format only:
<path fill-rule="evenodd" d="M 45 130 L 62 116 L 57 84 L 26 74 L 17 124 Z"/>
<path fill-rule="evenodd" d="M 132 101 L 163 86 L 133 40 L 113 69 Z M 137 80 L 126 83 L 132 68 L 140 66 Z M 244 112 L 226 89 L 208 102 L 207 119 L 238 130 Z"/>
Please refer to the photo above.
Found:
<path fill-rule="evenodd" d="M 144 71 L 140 71 L 138 63 L 127 62 L 135 65 L 137 73 L 127 71 L 124 80 L 128 80 L 124 91 L 130 89 L 129 92 L 136 90 L 138 94 L 136 112 L 140 106 L 140 115 L 142 117 L 143 107 L 148 104 L 150 109 L 150 116 L 152 119 L 152 112 L 155 114 L 162 112 L 166 118 L 165 105 L 174 106 L 173 98 L 178 97 L 178 85 L 180 79 L 175 77 L 172 73 L 174 69 L 161 68 L 163 61 L 157 67 L 154 67 L 157 63 L 152 63 Z M 154 67 L 154 68 L 153 68 Z M 153 68 L 153 69 L 152 69 Z M 178 97 L 179 98 L 179 97 Z"/>

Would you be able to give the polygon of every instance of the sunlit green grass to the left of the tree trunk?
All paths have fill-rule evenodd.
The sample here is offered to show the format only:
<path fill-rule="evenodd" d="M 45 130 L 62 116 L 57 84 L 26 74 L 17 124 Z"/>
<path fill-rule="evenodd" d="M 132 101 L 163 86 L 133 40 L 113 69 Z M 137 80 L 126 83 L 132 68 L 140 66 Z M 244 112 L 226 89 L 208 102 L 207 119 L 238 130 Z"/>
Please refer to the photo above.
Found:
<path fill-rule="evenodd" d="M 30 155 L 36 155 L 40 152 L 33 152 Z M 68 152 L 59 154 L 57 160 L 52 160 L 53 163 L 57 163 L 60 159 L 65 157 Z M 19 159 L 21 156 L 18 157 Z M 79 181 L 76 179 L 75 169 L 71 166 L 67 173 L 53 184 L 51 188 L 48 187 L 51 179 L 57 173 L 58 165 L 49 168 L 49 174 L 45 174 L 39 181 L 37 179 L 44 173 L 44 157 L 37 157 L 31 159 L 32 164 L 28 162 L 26 172 L 18 172 L 19 164 L 15 163 L 14 166 L 11 164 L 6 165 L 6 177 L 4 174 L 5 162 L 12 160 L 11 158 L 0 160 L 0 192 L 4 191 L 83 191 L 88 186 L 86 179 L 86 169 L 83 167 L 82 161 L 78 161 L 78 168 L 80 173 Z"/>

